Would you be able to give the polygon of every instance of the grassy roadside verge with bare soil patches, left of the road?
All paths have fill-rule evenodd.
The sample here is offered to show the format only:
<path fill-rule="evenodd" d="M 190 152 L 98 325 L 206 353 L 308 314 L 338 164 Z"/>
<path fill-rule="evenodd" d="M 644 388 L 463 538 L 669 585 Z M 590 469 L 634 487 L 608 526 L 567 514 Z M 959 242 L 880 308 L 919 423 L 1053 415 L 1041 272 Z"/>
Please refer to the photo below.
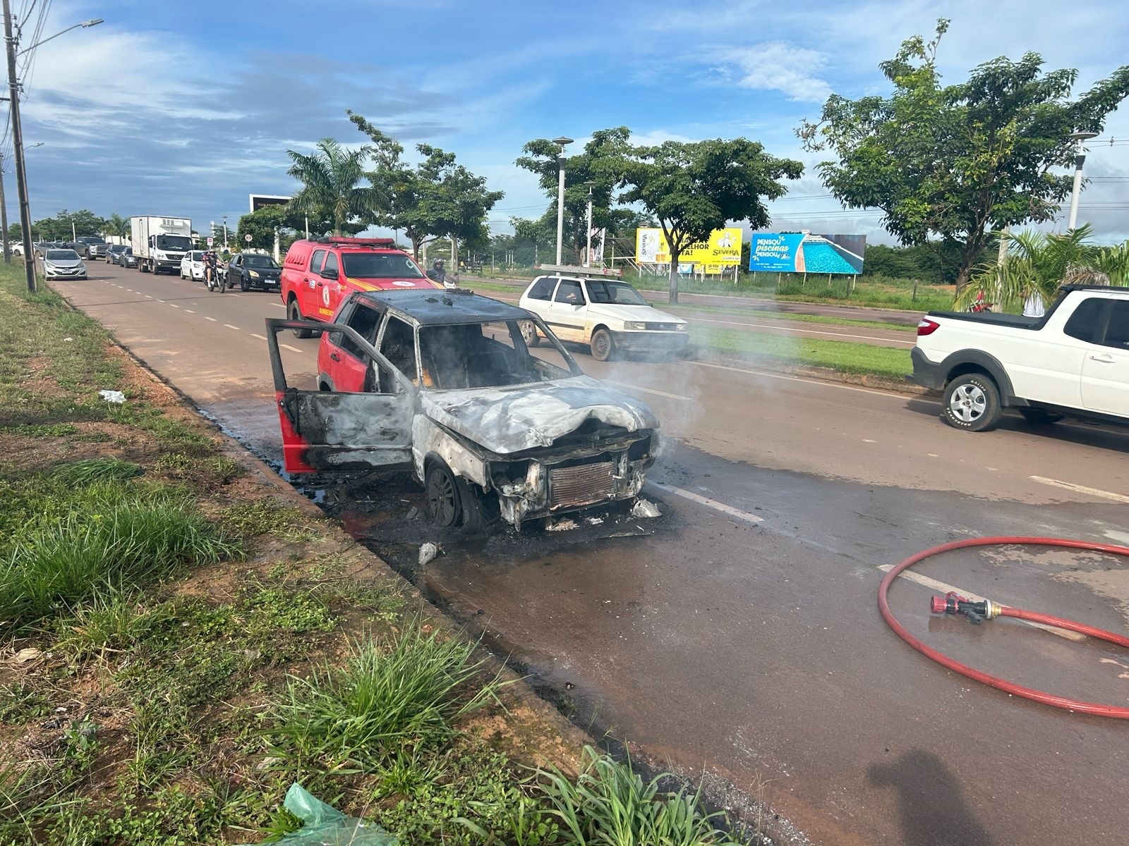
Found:
<path fill-rule="evenodd" d="M 98 324 L 8 268 L 0 309 L 0 845 L 265 841 L 295 783 L 402 846 L 733 841 L 567 740 Z"/>

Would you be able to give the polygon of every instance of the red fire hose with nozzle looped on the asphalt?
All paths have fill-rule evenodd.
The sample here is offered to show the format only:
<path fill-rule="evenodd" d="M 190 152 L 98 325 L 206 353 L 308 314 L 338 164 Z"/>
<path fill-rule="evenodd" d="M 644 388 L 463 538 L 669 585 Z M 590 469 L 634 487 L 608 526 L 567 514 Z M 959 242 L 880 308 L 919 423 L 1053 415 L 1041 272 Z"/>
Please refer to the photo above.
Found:
<path fill-rule="evenodd" d="M 893 613 L 890 610 L 890 602 L 886 600 L 886 592 L 890 590 L 890 585 L 893 583 L 894 579 L 896 579 L 899 573 L 903 570 L 909 570 L 918 562 L 931 558 L 934 555 L 939 555 L 940 553 L 952 552 L 953 549 L 966 549 L 975 546 L 1013 545 L 1062 546 L 1068 549 L 1085 549 L 1086 552 L 1108 553 L 1110 555 L 1123 555 L 1129 557 L 1129 547 L 1114 546 L 1112 544 L 1092 544 L 1086 540 L 1066 540 L 1064 538 L 995 537 L 954 540 L 949 544 L 942 544 L 940 546 L 935 546 L 930 549 L 924 549 L 920 553 L 916 553 L 886 573 L 886 578 L 883 579 L 882 584 L 878 585 L 878 610 L 882 611 L 883 619 L 885 619 L 886 624 L 894 629 L 895 633 L 898 633 L 899 637 L 905 641 L 922 655 L 931 658 L 943 667 L 947 667 L 949 670 L 959 672 L 962 676 L 966 676 L 974 681 L 980 681 L 999 690 L 1014 694 L 1015 696 L 1022 696 L 1025 699 L 1041 702 L 1044 705 L 1053 705 L 1057 708 L 1078 711 L 1083 714 L 1095 714 L 1097 716 L 1112 716 L 1120 720 L 1129 720 L 1129 708 L 1127 707 L 1102 705 L 1093 702 L 1083 702 L 1080 699 L 1070 699 L 1065 696 L 1054 696 L 1053 694 L 1048 694 L 1042 690 L 1034 690 L 1030 687 L 1016 685 L 997 676 L 990 676 L 987 672 L 981 672 L 980 670 L 975 670 L 966 664 L 962 664 L 960 661 L 954 661 L 952 658 L 948 658 L 948 655 L 938 652 L 931 646 L 927 646 L 920 640 L 911 635 L 905 631 L 905 627 L 894 618 Z M 1009 608 L 1008 606 L 999 605 L 998 602 L 992 602 L 991 600 L 973 602 L 972 600 L 965 599 L 956 593 L 948 593 L 944 598 L 934 597 L 930 601 L 930 609 L 934 614 L 963 614 L 973 623 L 980 623 L 994 617 L 1015 617 L 1031 623 L 1041 623 L 1047 626 L 1054 626 L 1056 628 L 1066 628 L 1071 632 L 1078 632 L 1080 634 L 1088 635 L 1089 637 L 1099 637 L 1103 641 L 1109 641 L 1110 643 L 1115 643 L 1119 646 L 1129 649 L 1129 637 L 1123 635 L 1106 632 L 1103 628 L 1087 626 L 1083 623 L 1062 619 L 1061 617 L 1052 617 L 1049 614 L 1039 614 L 1038 611 L 1029 611 L 1022 608 Z"/>

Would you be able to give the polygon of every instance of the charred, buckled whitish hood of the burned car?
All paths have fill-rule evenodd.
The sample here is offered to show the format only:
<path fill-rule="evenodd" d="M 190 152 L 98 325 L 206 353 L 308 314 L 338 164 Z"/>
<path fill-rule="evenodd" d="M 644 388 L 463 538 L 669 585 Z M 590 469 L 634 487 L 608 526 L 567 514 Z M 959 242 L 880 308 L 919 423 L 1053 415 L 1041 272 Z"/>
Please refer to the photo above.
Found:
<path fill-rule="evenodd" d="M 423 413 L 491 452 L 536 447 L 588 421 L 629 432 L 658 429 L 654 412 L 634 397 L 587 376 L 501 388 L 425 391 Z"/>

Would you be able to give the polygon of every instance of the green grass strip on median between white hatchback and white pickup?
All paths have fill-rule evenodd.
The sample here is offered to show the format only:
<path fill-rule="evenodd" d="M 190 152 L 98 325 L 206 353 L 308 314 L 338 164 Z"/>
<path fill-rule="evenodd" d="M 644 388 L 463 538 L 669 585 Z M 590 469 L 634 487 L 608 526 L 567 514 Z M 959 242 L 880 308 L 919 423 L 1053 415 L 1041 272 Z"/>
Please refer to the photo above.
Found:
<path fill-rule="evenodd" d="M 847 341 L 795 338 L 742 329 L 691 326 L 690 337 L 700 350 L 756 361 L 830 368 L 840 373 L 870 374 L 901 381 L 912 372 L 909 350 Z"/>

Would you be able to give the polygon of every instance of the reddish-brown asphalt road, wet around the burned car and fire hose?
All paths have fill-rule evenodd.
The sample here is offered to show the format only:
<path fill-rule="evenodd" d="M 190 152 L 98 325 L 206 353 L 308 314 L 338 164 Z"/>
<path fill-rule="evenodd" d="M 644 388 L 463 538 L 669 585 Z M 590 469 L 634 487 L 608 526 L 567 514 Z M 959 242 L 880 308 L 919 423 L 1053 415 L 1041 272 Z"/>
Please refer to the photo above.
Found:
<path fill-rule="evenodd" d="M 262 319 L 283 315 L 278 297 L 91 270 L 90 281 L 59 289 L 275 457 Z M 316 340 L 283 343 L 296 378 L 310 373 Z M 770 822 L 780 839 L 1124 843 L 1129 726 L 943 670 L 886 628 L 875 591 L 881 567 L 955 538 L 1129 543 L 1129 432 L 1009 416 L 969 434 L 920 397 L 709 361 L 577 359 L 663 420 L 648 494 L 664 517 L 629 521 L 650 532 L 641 537 L 448 544 L 422 581 L 453 615 L 638 757 L 704 770 L 727 804 L 760 797 L 780 814 Z M 406 519 L 400 494 L 411 500 L 410 486 L 384 487 L 384 504 L 347 502 L 347 525 L 391 558 L 410 556 L 435 532 Z M 1122 561 L 1005 548 L 918 571 L 934 588 L 1129 625 Z M 1012 620 L 929 618 L 933 592 L 900 581 L 892 603 L 955 658 L 1064 695 L 1129 700 L 1123 651 Z"/>

